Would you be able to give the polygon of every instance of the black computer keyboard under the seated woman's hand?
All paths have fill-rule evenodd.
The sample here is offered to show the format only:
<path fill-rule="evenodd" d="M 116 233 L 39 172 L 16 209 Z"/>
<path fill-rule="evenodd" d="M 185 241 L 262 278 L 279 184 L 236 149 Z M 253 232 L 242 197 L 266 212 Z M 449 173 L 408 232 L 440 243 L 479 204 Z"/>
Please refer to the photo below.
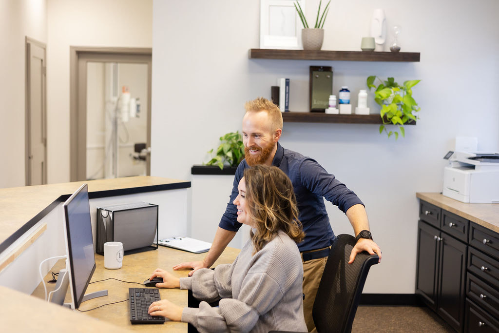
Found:
<path fill-rule="evenodd" d="M 128 288 L 130 322 L 132 324 L 163 324 L 165 317 L 148 314 L 151 303 L 160 301 L 158 288 Z"/>

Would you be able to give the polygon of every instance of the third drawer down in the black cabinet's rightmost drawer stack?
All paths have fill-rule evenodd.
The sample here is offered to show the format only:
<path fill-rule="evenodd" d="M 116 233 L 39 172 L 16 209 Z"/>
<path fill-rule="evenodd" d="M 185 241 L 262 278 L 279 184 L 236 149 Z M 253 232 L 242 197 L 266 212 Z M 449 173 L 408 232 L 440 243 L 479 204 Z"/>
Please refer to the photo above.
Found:
<path fill-rule="evenodd" d="M 499 291 L 496 288 L 468 274 L 466 296 L 494 318 L 499 318 Z"/>

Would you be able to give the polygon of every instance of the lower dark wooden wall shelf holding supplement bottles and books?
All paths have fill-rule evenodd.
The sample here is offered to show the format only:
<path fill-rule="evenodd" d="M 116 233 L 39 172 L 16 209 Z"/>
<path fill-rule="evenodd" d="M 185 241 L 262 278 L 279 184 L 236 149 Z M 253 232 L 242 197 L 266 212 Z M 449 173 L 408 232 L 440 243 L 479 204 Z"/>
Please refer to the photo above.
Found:
<path fill-rule="evenodd" d="M 379 114 L 328 114 L 322 112 L 283 112 L 284 122 L 343 123 L 343 124 L 382 124 Z M 410 121 L 404 125 L 416 125 Z"/>

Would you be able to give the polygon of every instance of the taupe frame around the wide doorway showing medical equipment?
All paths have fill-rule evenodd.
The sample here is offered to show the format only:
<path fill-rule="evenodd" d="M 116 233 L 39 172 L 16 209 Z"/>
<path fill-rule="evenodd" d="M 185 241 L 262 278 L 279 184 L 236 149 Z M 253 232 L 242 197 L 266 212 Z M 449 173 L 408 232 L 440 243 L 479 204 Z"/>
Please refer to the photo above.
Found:
<path fill-rule="evenodd" d="M 70 46 L 70 181 L 86 180 L 87 77 L 79 74 L 86 62 L 137 62 L 148 64 L 147 83 L 147 147 L 151 147 L 151 81 L 152 48 L 150 47 L 86 47 Z M 81 167 L 83 166 L 83 167 Z M 151 174 L 151 159 L 146 158 L 146 174 Z"/>

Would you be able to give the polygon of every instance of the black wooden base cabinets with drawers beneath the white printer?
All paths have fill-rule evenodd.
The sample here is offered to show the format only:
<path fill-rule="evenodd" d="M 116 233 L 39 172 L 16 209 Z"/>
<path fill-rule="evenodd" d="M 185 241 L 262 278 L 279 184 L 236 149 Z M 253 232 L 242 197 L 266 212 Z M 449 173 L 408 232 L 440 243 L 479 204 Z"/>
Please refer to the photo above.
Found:
<path fill-rule="evenodd" d="M 416 294 L 458 332 L 499 333 L 499 234 L 421 200 Z"/>

